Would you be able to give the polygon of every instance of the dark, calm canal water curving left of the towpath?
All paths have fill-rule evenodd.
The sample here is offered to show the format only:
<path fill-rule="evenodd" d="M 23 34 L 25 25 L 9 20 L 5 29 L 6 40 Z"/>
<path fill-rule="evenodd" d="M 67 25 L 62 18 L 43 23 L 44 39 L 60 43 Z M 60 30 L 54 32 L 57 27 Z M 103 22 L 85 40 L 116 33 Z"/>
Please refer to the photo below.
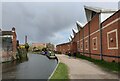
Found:
<path fill-rule="evenodd" d="M 3 64 L 3 79 L 48 79 L 57 65 L 57 60 L 44 55 L 28 53 L 28 61 Z"/>

